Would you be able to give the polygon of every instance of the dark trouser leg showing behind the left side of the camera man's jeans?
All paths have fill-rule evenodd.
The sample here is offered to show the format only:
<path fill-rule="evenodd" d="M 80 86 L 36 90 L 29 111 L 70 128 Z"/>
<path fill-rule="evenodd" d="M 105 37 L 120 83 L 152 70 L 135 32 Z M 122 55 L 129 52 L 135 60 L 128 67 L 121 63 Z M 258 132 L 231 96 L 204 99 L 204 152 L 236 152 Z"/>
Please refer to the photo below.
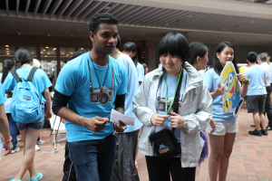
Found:
<path fill-rule="evenodd" d="M 75 170 L 73 163 L 69 157 L 68 142 L 65 144 L 65 161 L 63 164 L 63 181 L 76 181 Z"/>

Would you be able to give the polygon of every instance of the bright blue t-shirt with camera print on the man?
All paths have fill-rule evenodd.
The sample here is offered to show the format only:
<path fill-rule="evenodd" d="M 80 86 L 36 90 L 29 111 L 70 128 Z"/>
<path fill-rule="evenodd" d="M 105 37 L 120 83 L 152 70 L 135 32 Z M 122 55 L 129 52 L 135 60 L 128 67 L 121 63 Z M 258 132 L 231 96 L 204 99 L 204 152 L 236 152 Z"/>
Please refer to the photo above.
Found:
<path fill-rule="evenodd" d="M 90 94 L 91 88 L 88 62 L 90 64 L 92 74 L 92 102 Z M 101 86 L 105 81 L 103 84 L 105 87 L 102 89 L 102 91 L 108 93 L 110 98 L 108 99 L 109 101 L 103 105 L 97 100 L 98 94 L 101 91 L 98 80 Z M 68 107 L 73 110 L 73 112 L 90 119 L 95 116 L 110 119 L 112 109 L 115 108 L 114 100 L 116 95 L 122 95 L 127 92 L 126 69 L 124 65 L 121 64 L 121 62 L 117 62 L 111 56 L 109 56 L 109 63 L 106 66 L 97 65 L 91 61 L 89 52 L 86 52 L 81 56 L 76 57 L 72 61 L 67 62 L 63 66 L 63 69 L 58 76 L 55 90 L 58 90 L 60 93 L 66 96 L 71 96 Z M 112 100 L 110 96 L 111 92 Z M 105 97 L 103 96 L 103 98 Z M 97 133 L 94 133 L 90 129 L 74 124 L 67 120 L 65 120 L 65 127 L 67 129 L 68 142 L 102 139 L 112 134 L 113 132 L 112 122 L 110 121 L 106 123 L 104 129 Z"/>

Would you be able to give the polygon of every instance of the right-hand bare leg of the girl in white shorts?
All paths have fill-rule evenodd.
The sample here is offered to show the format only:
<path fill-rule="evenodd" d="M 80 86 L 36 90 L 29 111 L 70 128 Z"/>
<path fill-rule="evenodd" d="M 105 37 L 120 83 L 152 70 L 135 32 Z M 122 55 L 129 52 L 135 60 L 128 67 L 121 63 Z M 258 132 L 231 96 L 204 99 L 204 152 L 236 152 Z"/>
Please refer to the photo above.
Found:
<path fill-rule="evenodd" d="M 232 152 L 236 133 L 226 133 L 224 140 L 223 155 L 219 164 L 219 181 L 225 181 L 228 173 L 228 162 Z"/>

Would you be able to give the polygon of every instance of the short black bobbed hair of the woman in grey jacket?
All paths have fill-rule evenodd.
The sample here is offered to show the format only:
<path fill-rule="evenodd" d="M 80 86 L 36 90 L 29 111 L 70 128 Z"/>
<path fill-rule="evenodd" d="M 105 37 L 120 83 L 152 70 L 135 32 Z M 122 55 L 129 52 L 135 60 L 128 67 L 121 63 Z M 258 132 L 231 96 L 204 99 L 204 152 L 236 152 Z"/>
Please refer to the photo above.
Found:
<path fill-rule="evenodd" d="M 182 62 L 189 58 L 189 43 L 187 39 L 177 32 L 167 33 L 158 45 L 158 55 L 168 54 L 180 56 Z"/>

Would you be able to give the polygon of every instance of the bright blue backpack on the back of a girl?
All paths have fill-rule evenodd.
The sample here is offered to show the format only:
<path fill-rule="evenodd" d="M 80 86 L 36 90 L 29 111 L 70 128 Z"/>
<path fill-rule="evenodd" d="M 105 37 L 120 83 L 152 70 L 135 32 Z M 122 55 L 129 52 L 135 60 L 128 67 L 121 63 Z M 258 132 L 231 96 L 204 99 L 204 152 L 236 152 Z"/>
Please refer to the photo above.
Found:
<path fill-rule="evenodd" d="M 20 78 L 15 70 L 11 71 L 17 81 L 10 105 L 10 112 L 15 122 L 30 123 L 42 119 L 42 99 L 31 82 L 36 70 L 36 67 L 32 68 L 26 81 Z"/>

